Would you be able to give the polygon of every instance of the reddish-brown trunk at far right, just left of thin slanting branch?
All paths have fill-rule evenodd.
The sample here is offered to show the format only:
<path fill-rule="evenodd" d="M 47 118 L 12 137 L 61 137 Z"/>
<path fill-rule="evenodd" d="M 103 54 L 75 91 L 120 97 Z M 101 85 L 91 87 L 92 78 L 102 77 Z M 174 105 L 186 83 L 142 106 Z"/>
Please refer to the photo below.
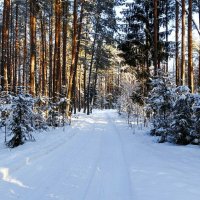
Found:
<path fill-rule="evenodd" d="M 194 92 L 194 70 L 192 63 L 192 0 L 189 0 L 188 14 L 188 86 Z"/>

